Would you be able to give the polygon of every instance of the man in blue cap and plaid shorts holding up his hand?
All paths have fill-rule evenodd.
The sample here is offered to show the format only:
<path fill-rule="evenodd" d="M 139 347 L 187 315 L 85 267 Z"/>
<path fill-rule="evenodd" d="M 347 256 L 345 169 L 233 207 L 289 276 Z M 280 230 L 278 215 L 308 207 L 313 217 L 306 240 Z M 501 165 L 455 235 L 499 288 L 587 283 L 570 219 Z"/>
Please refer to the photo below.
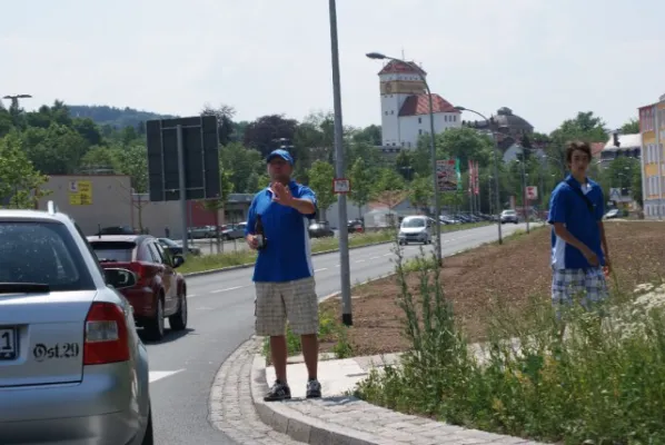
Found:
<path fill-rule="evenodd" d="M 307 397 L 320 397 L 321 386 L 317 379 L 318 299 L 308 231 L 309 220 L 317 211 L 316 195 L 309 187 L 291 179 L 294 159 L 288 151 L 272 151 L 267 162 L 271 182 L 254 197 L 245 229 L 247 244 L 258 249 L 252 278 L 256 286 L 256 333 L 270 337 L 276 374 L 275 385 L 264 399 L 291 398 L 286 376 L 287 319 L 302 343 L 302 356 L 309 374 Z M 258 220 L 264 231 L 262 248 L 257 237 Z"/>

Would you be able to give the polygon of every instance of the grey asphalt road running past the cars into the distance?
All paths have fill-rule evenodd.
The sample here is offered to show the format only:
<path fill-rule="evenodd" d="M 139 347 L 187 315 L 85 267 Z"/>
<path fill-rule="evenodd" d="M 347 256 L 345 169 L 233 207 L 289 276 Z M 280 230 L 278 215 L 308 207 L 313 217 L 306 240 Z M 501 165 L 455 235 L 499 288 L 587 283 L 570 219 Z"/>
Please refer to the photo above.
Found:
<path fill-rule="evenodd" d="M 519 228 L 525 225 L 506 225 L 504 234 Z M 489 226 L 444 234 L 444 255 L 493 241 L 496 231 Z M 417 256 L 419 248 L 407 246 L 404 256 Z M 387 244 L 350 250 L 351 285 L 393 271 L 391 249 Z M 338 291 L 339 254 L 315 256 L 314 266 L 319 297 Z M 247 268 L 189 278 L 188 330 L 167 332 L 161 343 L 147 345 L 156 443 L 232 443 L 208 423 L 208 396 L 224 360 L 254 334 L 251 273 Z"/>

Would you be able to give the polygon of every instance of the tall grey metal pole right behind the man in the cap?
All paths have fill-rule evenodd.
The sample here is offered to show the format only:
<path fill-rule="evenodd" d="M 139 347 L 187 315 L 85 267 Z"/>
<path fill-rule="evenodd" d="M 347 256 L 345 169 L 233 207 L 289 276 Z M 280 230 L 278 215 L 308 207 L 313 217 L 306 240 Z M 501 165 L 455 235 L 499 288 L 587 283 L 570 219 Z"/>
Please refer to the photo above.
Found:
<path fill-rule="evenodd" d="M 332 59 L 332 98 L 335 110 L 335 158 L 336 176 L 344 178 L 344 127 L 341 126 L 341 86 L 339 80 L 339 49 L 337 42 L 337 8 L 335 0 L 328 2 L 330 10 L 330 49 Z M 337 197 L 339 216 L 339 277 L 341 279 L 341 323 L 353 326 L 351 313 L 351 276 L 349 270 L 349 234 L 346 230 L 346 195 Z"/>

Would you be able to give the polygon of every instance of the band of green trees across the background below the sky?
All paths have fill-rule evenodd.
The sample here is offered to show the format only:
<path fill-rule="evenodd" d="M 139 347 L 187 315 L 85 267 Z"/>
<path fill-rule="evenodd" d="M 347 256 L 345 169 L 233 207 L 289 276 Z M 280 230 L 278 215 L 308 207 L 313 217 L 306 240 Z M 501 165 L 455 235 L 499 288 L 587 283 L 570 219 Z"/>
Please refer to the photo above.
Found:
<path fill-rule="evenodd" d="M 102 110 L 109 115 L 109 110 Z M 121 110 L 112 109 L 115 121 L 123 121 Z M 131 110 L 137 118 L 136 110 Z M 100 112 L 100 111 L 98 111 Z M 77 115 L 79 115 L 77 112 Z M 254 194 L 268 184 L 266 156 L 279 140 L 288 141 L 296 160 L 295 178 L 309 185 L 318 195 L 321 210 L 329 208 L 336 197 L 331 184 L 335 176 L 334 117 L 317 112 L 301 121 L 284 115 L 261 116 L 254 121 L 236 120 L 235 109 L 227 105 L 205 105 L 201 115 L 215 115 L 220 140 L 221 199 L 207 201 L 210 210 L 222 208 L 231 192 Z M 136 121 L 136 120 L 135 120 Z M 624 130 L 634 132 L 635 121 Z M 565 165 L 564 147 L 569 139 L 605 142 L 605 122 L 593 112 L 578 112 L 549 135 L 534 134 L 530 141 L 544 147 L 547 161 L 525 156 L 524 172 L 528 185 L 539 186 L 540 202 L 562 179 Z M 350 200 L 359 208 L 370 201 L 394 207 L 408 198 L 415 208 L 426 209 L 433 197 L 429 139 L 424 136 L 415 149 L 396 157 L 381 155 L 379 126 L 344 128 L 344 151 L 347 176 L 351 180 Z M 461 166 L 461 190 L 443 195 L 443 205 L 456 208 L 469 206 L 468 160 L 479 166 L 479 210 L 495 212 L 494 144 L 490 137 L 472 128 L 449 129 L 436 136 L 438 159 L 458 158 Z M 123 174 L 131 178 L 135 192 L 148 192 L 148 161 L 146 126 L 99 125 L 89 117 L 76 117 L 62 101 L 26 111 L 0 103 L 0 199 L 4 206 L 31 206 L 32 190 L 47 180 L 48 175 Z M 639 177 L 638 165 L 631 159 L 613 162 L 607 170 L 596 170 L 606 187 L 628 187 L 634 190 Z M 523 169 L 519 162 L 499 165 L 500 201 L 515 196 L 520 204 Z M 617 181 L 621 182 L 617 185 Z M 353 215 L 353 214 L 351 214 Z M 324 215 L 325 216 L 325 215 Z"/>

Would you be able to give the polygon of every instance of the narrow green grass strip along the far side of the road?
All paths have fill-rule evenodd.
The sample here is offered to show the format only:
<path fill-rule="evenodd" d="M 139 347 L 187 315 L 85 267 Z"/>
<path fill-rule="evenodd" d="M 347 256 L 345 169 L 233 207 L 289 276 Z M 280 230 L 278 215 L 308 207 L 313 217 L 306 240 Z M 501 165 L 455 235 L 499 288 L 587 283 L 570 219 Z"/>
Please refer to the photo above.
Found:
<path fill-rule="evenodd" d="M 464 230 L 477 227 L 484 227 L 492 222 L 473 222 L 466 225 L 441 226 L 441 233 Z M 349 234 L 349 247 L 363 247 L 379 243 L 391 243 L 395 240 L 394 230 L 371 231 L 365 234 Z M 244 243 L 239 240 L 239 243 Z M 338 250 L 338 238 L 315 238 L 311 240 L 311 251 L 314 254 Z M 221 269 L 225 267 L 254 264 L 256 261 L 256 251 L 250 249 L 240 249 L 215 255 L 188 256 L 187 260 L 178 271 L 181 274 L 191 274 L 197 271 Z"/>

